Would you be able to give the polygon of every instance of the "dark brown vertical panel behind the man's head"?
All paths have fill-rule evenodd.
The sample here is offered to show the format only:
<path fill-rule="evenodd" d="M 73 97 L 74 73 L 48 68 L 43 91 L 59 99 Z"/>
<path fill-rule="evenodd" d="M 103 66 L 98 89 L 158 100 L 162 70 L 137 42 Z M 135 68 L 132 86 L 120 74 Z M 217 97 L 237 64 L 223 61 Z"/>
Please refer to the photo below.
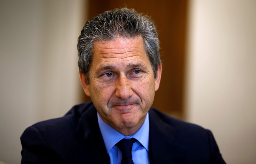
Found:
<path fill-rule="evenodd" d="M 153 107 L 183 118 L 186 66 L 187 0 L 89 0 L 89 19 L 114 8 L 134 8 L 151 16 L 158 29 L 162 80 Z M 90 98 L 84 98 L 89 101 Z"/>

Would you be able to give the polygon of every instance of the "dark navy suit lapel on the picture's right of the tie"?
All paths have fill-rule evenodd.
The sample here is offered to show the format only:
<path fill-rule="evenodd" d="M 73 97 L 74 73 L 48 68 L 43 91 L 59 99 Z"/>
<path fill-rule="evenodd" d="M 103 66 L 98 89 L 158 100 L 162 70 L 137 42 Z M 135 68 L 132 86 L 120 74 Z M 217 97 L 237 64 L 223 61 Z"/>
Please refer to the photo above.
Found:
<path fill-rule="evenodd" d="M 176 130 L 161 117 L 162 113 L 149 110 L 150 164 L 186 163 L 186 149 L 175 143 Z"/>

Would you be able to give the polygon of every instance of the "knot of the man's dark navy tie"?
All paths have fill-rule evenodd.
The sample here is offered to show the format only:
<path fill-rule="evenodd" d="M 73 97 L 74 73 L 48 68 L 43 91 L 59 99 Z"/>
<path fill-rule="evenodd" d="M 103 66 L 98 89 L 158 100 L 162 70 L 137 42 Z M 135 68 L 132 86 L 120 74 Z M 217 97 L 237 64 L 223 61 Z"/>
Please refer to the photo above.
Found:
<path fill-rule="evenodd" d="M 120 149 L 122 152 L 123 158 L 132 158 L 132 144 L 136 142 L 137 140 L 132 139 L 122 139 L 119 141 L 116 146 Z"/>

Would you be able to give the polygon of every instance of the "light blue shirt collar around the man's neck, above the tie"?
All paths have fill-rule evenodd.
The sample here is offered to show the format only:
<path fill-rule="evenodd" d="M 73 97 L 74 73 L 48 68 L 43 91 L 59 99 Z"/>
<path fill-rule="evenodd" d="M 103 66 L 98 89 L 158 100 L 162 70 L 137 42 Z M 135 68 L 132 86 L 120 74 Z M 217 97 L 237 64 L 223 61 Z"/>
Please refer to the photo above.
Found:
<path fill-rule="evenodd" d="M 148 140 L 149 140 L 149 119 L 148 119 L 148 113 L 146 115 L 146 119 L 140 129 L 131 136 L 124 136 L 123 134 L 119 133 L 115 129 L 113 129 L 111 126 L 109 126 L 106 122 L 104 122 L 100 116 L 98 115 L 98 123 L 100 127 L 100 132 L 103 137 L 107 152 L 110 151 L 110 149 L 118 143 L 123 138 L 135 138 L 137 139 L 140 144 L 142 144 L 148 151 Z"/>

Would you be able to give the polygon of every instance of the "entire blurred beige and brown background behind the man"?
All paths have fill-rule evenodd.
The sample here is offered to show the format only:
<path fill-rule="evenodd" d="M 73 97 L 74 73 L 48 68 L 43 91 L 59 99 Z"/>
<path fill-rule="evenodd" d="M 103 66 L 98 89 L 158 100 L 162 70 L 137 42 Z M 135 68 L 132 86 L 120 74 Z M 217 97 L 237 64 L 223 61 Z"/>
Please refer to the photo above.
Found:
<path fill-rule="evenodd" d="M 19 137 L 28 126 L 87 99 L 78 78 L 77 37 L 95 10 L 126 4 L 151 15 L 159 30 L 160 89 L 167 86 L 168 94 L 156 95 L 154 105 L 162 109 L 174 96 L 165 113 L 211 129 L 227 163 L 255 163 L 256 1 L 97 2 L 0 0 L 0 161 L 20 163 Z M 169 14 L 163 19 L 158 13 Z"/>

